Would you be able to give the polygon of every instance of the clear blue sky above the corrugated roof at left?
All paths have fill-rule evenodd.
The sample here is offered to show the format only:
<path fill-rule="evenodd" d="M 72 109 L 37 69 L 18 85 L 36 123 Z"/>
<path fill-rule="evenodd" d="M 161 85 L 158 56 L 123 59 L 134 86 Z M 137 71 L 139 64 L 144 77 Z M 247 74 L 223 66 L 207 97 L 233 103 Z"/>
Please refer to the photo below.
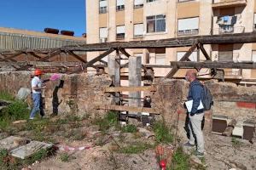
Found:
<path fill-rule="evenodd" d="M 0 26 L 44 31 L 85 32 L 85 0 L 0 0 Z"/>

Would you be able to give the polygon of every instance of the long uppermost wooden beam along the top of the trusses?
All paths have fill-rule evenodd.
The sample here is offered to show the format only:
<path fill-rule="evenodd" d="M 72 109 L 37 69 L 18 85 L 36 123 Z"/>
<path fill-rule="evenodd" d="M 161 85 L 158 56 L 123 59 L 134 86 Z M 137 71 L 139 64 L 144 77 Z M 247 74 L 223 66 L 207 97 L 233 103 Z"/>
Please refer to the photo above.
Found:
<path fill-rule="evenodd" d="M 65 46 L 60 48 L 62 51 L 106 51 L 109 48 L 177 48 L 191 47 L 196 42 L 201 44 L 226 44 L 226 43 L 251 43 L 256 42 L 256 34 L 254 32 L 222 34 L 209 36 L 191 36 L 191 37 L 175 37 L 160 40 L 133 41 L 133 42 L 107 42 L 84 44 L 81 46 Z M 29 52 L 48 54 L 49 49 L 24 49 L 24 50 L 6 50 L 2 53 L 15 54 L 17 52 Z M 0 52 L 1 53 L 1 52 Z"/>

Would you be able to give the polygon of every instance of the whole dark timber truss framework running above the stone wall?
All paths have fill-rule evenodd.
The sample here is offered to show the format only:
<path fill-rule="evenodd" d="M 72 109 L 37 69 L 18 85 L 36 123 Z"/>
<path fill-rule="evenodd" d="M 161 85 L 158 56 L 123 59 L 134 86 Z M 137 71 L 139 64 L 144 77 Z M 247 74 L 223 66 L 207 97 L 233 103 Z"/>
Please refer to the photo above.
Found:
<path fill-rule="evenodd" d="M 256 42 L 256 35 L 252 33 L 237 33 L 237 34 L 227 34 L 227 35 L 211 35 L 211 36 L 194 36 L 194 37 L 177 37 L 169 39 L 160 39 L 160 40 L 148 40 L 148 41 L 134 41 L 134 42 L 107 42 L 107 43 L 95 43 L 95 44 L 84 44 L 80 46 L 65 46 L 61 48 L 50 48 L 50 49 L 20 49 L 20 50 L 9 50 L 9 51 L 0 51 L 0 64 L 16 64 L 20 65 L 15 68 L 16 71 L 28 70 L 32 66 L 38 65 L 47 65 L 50 63 L 51 58 L 54 58 L 58 54 L 69 54 L 75 59 L 79 60 L 81 66 L 76 68 L 74 71 L 71 71 L 69 74 L 80 73 L 88 67 L 93 67 L 95 69 L 107 67 L 108 63 L 102 59 L 108 54 L 116 51 L 116 54 L 119 53 L 125 54 L 127 58 L 131 55 L 128 54 L 126 48 L 177 48 L 177 47 L 190 47 L 189 51 L 183 55 L 179 61 L 171 62 L 171 65 L 142 65 L 142 68 L 145 70 L 148 67 L 150 68 L 172 68 L 172 70 L 166 75 L 166 78 L 172 78 L 175 73 L 180 68 L 195 68 L 200 70 L 201 68 L 211 68 L 216 70 L 218 68 L 239 68 L 239 69 L 256 69 L 256 63 L 253 62 L 212 62 L 210 56 L 207 54 L 207 51 L 204 48 L 204 44 L 225 44 L 225 43 L 251 43 Z M 205 62 L 191 62 L 189 60 L 189 55 L 193 53 L 195 49 L 200 49 L 202 54 L 204 54 L 206 61 Z M 90 61 L 84 60 L 79 54 L 75 52 L 95 52 L 95 51 L 104 51 L 102 54 L 97 56 L 95 59 Z M 21 54 L 31 55 L 36 58 L 36 61 L 33 62 L 20 62 L 15 60 L 16 57 Z M 120 59 L 120 58 L 119 58 Z M 95 65 L 96 62 L 101 62 L 102 65 Z M 22 63 L 22 65 L 20 64 Z M 54 63 L 54 66 L 61 65 L 61 63 Z M 67 63 L 67 65 L 77 65 L 72 63 Z M 128 67 L 128 63 L 125 65 L 119 65 L 120 68 Z"/>

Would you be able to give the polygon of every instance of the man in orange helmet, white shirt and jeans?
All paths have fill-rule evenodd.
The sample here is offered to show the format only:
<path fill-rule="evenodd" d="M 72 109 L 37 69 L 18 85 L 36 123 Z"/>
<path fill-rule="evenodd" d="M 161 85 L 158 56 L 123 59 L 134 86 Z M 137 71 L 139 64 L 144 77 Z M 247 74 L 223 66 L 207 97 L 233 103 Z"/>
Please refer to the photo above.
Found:
<path fill-rule="evenodd" d="M 32 78 L 32 82 L 31 82 L 33 108 L 32 108 L 29 119 L 34 119 L 38 111 L 40 111 L 41 117 L 44 116 L 42 89 L 44 89 L 45 87 L 43 86 L 43 81 L 41 80 L 41 76 L 42 76 L 42 71 L 38 69 L 34 71 L 34 77 Z"/>

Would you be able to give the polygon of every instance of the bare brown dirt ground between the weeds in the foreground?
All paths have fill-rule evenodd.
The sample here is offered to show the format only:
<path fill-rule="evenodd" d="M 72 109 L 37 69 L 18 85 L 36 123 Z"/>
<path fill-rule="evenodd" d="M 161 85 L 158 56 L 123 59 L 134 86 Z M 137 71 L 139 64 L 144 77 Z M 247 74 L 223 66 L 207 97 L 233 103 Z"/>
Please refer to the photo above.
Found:
<path fill-rule="evenodd" d="M 128 133 L 125 139 L 132 139 Z M 247 140 L 224 137 L 217 134 L 206 136 L 206 156 L 200 160 L 192 156 L 195 149 L 187 149 L 186 152 L 192 157 L 192 161 L 202 165 L 202 169 L 226 170 L 236 168 L 236 170 L 256 169 L 256 144 L 251 144 Z M 183 137 L 180 144 L 185 142 Z M 73 142 L 72 146 L 91 143 L 83 141 Z M 96 146 L 89 150 L 68 151 L 68 155 L 73 157 L 68 162 L 60 159 L 65 151 L 58 151 L 56 156 L 42 161 L 32 167 L 35 170 L 55 170 L 55 169 L 134 169 L 134 170 L 158 170 L 157 160 L 153 149 L 145 150 L 141 154 L 120 154 L 111 151 L 112 143 Z M 195 169 L 191 167 L 191 169 Z"/>

